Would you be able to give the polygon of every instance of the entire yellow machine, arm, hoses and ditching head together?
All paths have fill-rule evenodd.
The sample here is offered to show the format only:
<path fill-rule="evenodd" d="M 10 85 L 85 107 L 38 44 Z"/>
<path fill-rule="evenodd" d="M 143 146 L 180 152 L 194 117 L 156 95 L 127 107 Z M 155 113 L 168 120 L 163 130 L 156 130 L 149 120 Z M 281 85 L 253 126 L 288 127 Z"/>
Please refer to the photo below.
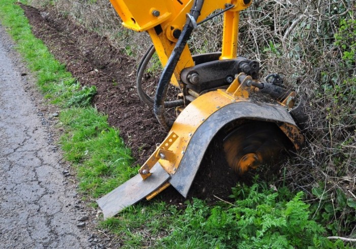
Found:
<path fill-rule="evenodd" d="M 237 56 L 240 11 L 252 0 L 142 0 L 139 7 L 133 0 L 110 2 L 125 27 L 152 39 L 138 66 L 136 86 L 170 131 L 139 174 L 97 200 L 104 218 L 152 199 L 169 185 L 187 197 L 205 150 L 220 131 L 226 134 L 221 151 L 238 174 L 269 163 L 283 149 L 303 145 L 290 114 L 295 92 L 277 74 L 257 81 L 258 61 Z M 219 14 L 224 14 L 221 52 L 192 56 L 187 42 L 193 30 Z M 155 51 L 164 70 L 152 98 L 143 91 L 142 77 Z M 169 84 L 181 94 L 166 102 Z M 172 107 L 180 112 L 174 122 L 165 115 Z"/>

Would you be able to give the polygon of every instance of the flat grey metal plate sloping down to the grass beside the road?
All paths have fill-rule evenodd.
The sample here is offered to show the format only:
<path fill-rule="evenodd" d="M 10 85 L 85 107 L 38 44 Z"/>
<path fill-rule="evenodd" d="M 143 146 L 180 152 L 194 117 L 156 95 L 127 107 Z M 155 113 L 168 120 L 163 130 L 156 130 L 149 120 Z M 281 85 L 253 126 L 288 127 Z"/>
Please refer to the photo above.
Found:
<path fill-rule="evenodd" d="M 125 207 L 135 204 L 157 190 L 169 178 L 169 174 L 157 162 L 150 170 L 152 175 L 143 180 L 140 174 L 118 186 L 97 200 L 103 210 L 104 219 L 114 216 Z"/>

